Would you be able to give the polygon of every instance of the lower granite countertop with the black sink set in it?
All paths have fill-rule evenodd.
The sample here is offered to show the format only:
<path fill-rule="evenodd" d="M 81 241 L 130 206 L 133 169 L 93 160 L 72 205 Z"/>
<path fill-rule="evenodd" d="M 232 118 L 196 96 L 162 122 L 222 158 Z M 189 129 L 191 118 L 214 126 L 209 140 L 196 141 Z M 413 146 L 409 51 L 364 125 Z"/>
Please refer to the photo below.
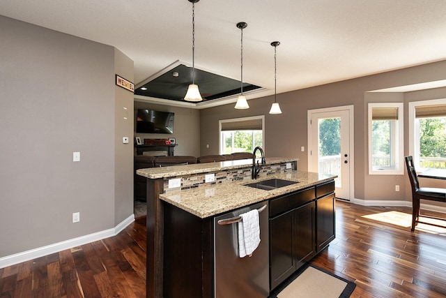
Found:
<path fill-rule="evenodd" d="M 281 159 L 283 162 L 283 158 Z M 203 164 L 204 165 L 204 164 Z M 199 218 L 207 218 L 231 211 L 249 204 L 261 202 L 284 195 L 293 191 L 298 191 L 309 186 L 330 181 L 336 176 L 329 174 L 318 174 L 314 172 L 289 171 L 259 177 L 255 181 L 268 180 L 272 178 L 298 181 L 271 191 L 264 191 L 252 188 L 243 184 L 252 183 L 254 180 L 232 181 L 222 184 L 206 185 L 187 190 L 169 190 L 160 195 L 160 199 L 183 209 Z"/>

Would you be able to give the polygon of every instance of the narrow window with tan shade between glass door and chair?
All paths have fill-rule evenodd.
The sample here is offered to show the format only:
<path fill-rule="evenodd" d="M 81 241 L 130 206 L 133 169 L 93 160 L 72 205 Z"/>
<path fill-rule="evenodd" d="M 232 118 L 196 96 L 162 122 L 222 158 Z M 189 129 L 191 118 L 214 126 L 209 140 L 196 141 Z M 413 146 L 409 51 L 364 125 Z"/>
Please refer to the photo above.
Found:
<path fill-rule="evenodd" d="M 403 103 L 369 103 L 369 174 L 404 174 Z"/>

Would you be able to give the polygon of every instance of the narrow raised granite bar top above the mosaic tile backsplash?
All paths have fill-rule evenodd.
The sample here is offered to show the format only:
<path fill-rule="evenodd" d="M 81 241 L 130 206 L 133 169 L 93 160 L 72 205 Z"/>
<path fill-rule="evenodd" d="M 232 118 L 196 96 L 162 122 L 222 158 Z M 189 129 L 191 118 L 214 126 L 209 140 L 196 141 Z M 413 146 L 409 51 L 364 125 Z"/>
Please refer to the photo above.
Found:
<path fill-rule="evenodd" d="M 291 163 L 293 161 L 298 161 L 298 158 L 268 157 L 266 158 L 266 165 L 274 165 L 277 163 Z M 245 167 L 252 167 L 252 159 L 221 161 L 217 163 L 197 163 L 192 165 L 173 165 L 170 167 L 148 167 L 146 169 L 137 170 L 137 174 L 149 179 L 158 179 L 184 176 L 188 174 L 201 174 L 206 172 L 219 172 L 222 170 L 241 169 Z"/>

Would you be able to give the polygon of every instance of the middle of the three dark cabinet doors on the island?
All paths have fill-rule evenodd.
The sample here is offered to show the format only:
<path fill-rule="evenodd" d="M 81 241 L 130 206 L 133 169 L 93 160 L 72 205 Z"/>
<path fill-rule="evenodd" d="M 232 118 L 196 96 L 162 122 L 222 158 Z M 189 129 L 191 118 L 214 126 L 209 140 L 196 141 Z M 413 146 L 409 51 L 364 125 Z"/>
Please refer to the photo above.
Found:
<path fill-rule="evenodd" d="M 314 240 L 315 234 L 315 207 L 314 202 L 309 202 L 295 209 L 295 259 L 297 268 L 305 264 L 316 254 Z"/>

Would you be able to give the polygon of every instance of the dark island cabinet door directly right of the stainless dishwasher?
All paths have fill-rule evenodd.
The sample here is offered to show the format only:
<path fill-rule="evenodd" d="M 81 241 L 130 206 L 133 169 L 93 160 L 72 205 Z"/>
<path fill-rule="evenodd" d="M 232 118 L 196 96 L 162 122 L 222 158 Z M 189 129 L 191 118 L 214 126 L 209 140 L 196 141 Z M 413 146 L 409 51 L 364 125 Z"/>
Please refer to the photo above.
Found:
<path fill-rule="evenodd" d="M 295 271 L 293 210 L 270 219 L 271 290 Z"/>

